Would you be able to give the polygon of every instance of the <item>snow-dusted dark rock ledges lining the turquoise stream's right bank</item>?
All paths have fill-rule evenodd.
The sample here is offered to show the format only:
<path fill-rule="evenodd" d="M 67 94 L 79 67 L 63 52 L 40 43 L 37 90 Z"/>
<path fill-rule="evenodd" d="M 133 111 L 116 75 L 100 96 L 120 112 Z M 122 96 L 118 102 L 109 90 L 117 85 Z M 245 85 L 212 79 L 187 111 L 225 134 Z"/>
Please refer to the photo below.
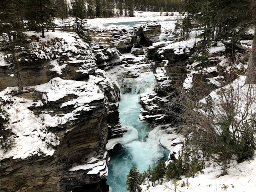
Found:
<path fill-rule="evenodd" d="M 176 120 L 179 111 L 173 99 L 179 94 L 178 85 L 182 85 L 186 78 L 186 60 L 193 52 L 193 46 L 193 40 L 189 40 L 157 42 L 146 48 L 157 86 L 151 94 L 140 95 L 140 120 L 156 124 Z"/>

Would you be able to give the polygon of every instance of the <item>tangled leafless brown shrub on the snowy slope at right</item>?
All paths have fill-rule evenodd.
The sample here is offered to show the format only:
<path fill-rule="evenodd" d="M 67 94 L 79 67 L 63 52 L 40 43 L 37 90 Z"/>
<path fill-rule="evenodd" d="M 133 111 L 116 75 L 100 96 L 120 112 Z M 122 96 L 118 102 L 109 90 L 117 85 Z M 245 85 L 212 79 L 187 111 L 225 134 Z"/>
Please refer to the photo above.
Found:
<path fill-rule="evenodd" d="M 204 94 L 210 90 L 206 84 L 195 89 L 188 93 L 180 88 L 179 96 L 165 110 L 177 116 L 178 126 L 187 136 L 186 145 L 206 159 L 214 158 L 226 174 L 233 155 L 242 162 L 256 149 L 256 86 L 244 85 L 238 78 L 208 95 Z"/>

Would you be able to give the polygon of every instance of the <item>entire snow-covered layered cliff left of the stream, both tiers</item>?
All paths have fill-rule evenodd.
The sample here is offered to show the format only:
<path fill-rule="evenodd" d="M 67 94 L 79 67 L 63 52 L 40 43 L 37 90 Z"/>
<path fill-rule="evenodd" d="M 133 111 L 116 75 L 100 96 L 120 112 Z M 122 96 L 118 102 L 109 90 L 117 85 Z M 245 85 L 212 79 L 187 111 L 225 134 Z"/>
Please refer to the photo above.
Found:
<path fill-rule="evenodd" d="M 6 88 L 12 58 L 0 65 L 0 191 L 107 192 L 106 143 L 124 132 L 116 90 L 76 34 L 46 36 L 18 57 L 22 92 Z"/>

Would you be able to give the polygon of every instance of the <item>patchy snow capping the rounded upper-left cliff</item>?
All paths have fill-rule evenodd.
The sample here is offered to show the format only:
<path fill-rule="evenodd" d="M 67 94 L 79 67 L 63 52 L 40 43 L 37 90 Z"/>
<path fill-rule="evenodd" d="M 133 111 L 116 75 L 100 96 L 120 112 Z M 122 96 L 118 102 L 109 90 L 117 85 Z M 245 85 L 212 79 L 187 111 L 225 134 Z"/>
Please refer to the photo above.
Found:
<path fill-rule="evenodd" d="M 28 36 L 40 36 L 40 33 L 26 32 Z M 79 69 L 76 72 L 90 74 L 96 70 L 96 58 L 90 50 L 89 44 L 83 42 L 76 33 L 68 32 L 45 32 L 45 38 L 40 38 L 40 42 L 30 43 L 31 54 L 42 60 L 52 60 L 51 71 L 62 74 L 68 64 L 78 64 Z M 75 56 L 74 56 L 75 55 Z M 68 57 L 64 64 L 60 65 L 60 58 Z"/>

